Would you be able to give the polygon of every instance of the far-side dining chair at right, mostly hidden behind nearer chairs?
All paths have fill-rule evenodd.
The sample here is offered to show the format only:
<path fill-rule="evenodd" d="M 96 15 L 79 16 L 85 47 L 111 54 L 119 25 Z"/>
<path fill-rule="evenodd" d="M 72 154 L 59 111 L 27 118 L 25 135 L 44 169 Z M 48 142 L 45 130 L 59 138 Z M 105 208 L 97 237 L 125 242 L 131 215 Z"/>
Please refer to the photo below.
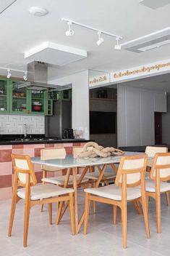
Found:
<path fill-rule="evenodd" d="M 168 148 L 167 147 L 155 147 L 155 146 L 147 146 L 145 148 L 145 153 L 147 153 L 148 157 L 154 157 L 156 153 L 168 153 Z M 149 172 L 146 172 L 145 178 L 149 179 L 150 178 L 150 169 L 153 166 L 153 159 L 148 159 L 147 161 L 147 169 L 149 169 Z M 166 192 L 166 204 L 169 207 L 169 193 Z"/>

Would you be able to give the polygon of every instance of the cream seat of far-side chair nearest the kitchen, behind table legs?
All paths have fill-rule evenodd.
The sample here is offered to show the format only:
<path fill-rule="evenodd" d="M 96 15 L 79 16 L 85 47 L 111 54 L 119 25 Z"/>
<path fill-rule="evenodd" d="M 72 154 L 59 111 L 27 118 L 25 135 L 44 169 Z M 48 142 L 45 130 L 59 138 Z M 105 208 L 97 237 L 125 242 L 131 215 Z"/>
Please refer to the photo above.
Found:
<path fill-rule="evenodd" d="M 77 175 L 77 182 L 80 179 L 81 175 Z M 56 184 L 56 185 L 64 185 L 64 181 L 66 180 L 67 175 L 63 175 L 63 176 L 56 176 L 56 177 L 45 177 L 42 179 L 43 182 L 46 183 L 52 183 L 52 184 Z M 87 178 L 83 178 L 81 183 L 86 183 L 88 182 Z M 68 185 L 72 185 L 73 184 L 73 177 L 72 175 L 69 176 L 69 182 Z"/>

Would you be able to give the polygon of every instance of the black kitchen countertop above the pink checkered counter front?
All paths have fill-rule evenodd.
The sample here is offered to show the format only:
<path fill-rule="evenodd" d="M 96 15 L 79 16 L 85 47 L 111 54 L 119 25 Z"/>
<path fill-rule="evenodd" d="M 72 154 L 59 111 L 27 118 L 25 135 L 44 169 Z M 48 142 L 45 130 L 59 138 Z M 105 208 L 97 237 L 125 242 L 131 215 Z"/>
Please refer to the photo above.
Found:
<path fill-rule="evenodd" d="M 85 139 L 61 139 L 61 140 L 0 140 L 0 145 L 20 144 L 56 144 L 56 143 L 87 143 L 93 140 Z"/>

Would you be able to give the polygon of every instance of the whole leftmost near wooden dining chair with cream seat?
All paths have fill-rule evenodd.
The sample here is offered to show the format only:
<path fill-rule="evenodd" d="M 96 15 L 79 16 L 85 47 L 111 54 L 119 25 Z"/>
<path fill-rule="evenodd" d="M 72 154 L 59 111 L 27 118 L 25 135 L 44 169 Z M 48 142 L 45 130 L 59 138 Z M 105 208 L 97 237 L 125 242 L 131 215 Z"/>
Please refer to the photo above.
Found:
<path fill-rule="evenodd" d="M 75 235 L 73 196 L 72 188 L 61 188 L 52 184 L 35 185 L 37 183 L 33 164 L 30 156 L 12 155 L 14 167 L 14 182 L 12 186 L 12 207 L 9 219 L 9 233 L 12 235 L 12 226 L 14 221 L 14 212 L 16 204 L 20 199 L 25 200 L 24 213 L 24 235 L 23 246 L 27 247 L 27 231 L 30 217 L 30 208 L 36 204 L 48 204 L 49 223 L 52 224 L 52 203 L 69 201 L 69 213 L 72 235 Z M 18 188 L 18 186 L 23 188 Z"/>

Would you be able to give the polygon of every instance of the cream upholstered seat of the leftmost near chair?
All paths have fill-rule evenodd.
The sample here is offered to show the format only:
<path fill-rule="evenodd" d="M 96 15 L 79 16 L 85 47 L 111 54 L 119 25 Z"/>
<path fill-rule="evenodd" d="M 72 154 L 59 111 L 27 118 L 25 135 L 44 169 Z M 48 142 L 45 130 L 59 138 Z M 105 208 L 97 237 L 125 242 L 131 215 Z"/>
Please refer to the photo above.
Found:
<path fill-rule="evenodd" d="M 30 187 L 30 200 L 48 199 L 53 196 L 61 196 L 73 192 L 74 190 L 72 188 L 61 188 L 52 184 L 35 185 Z M 17 196 L 25 199 L 25 188 L 18 189 Z"/>

